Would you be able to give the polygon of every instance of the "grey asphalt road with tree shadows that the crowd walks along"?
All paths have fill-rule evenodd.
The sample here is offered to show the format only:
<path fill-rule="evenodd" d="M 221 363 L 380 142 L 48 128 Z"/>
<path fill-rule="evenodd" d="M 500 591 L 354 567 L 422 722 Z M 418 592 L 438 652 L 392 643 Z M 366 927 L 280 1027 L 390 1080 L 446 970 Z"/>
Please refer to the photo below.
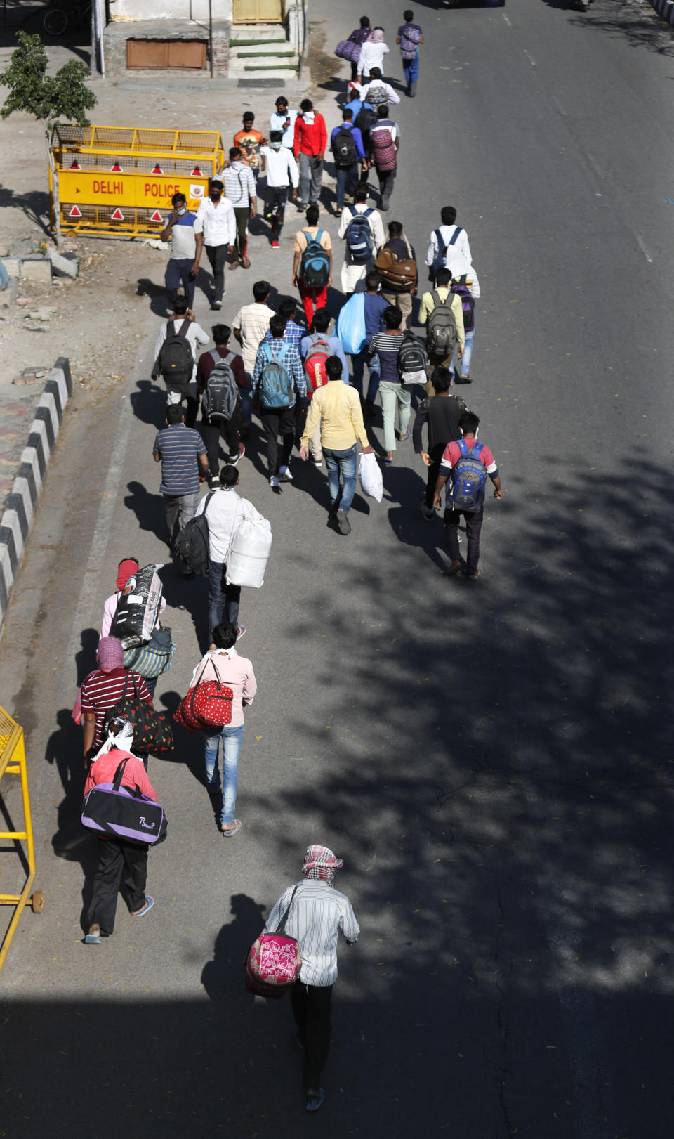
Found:
<path fill-rule="evenodd" d="M 331 48 L 360 8 L 338 26 L 326 9 Z M 483 575 L 441 576 L 411 444 L 343 539 L 324 477 L 295 460 L 272 497 L 254 436 L 241 491 L 274 546 L 241 609 L 260 685 L 244 831 L 224 849 L 181 737 L 150 763 L 170 818 L 150 853 L 157 904 L 138 923 L 121 907 L 115 937 L 84 949 L 94 844 L 68 716 L 117 560 L 163 556 L 155 326 L 124 394 L 68 411 L 0 646 L 46 893 L 0 985 L 11 1139 L 672 1131 L 671 30 L 608 0 L 586 16 L 416 9 L 427 42 L 419 96 L 396 110 L 389 216 L 421 253 L 451 200 L 474 248 L 469 402 L 506 486 Z M 258 264 L 285 292 L 280 256 Z M 230 317 L 252 274 L 236 276 Z M 206 595 L 170 570 L 165 588 L 180 648 L 157 703 L 172 708 Z M 313 841 L 344 858 L 362 927 L 340 954 L 320 1122 L 289 1008 L 253 1002 L 241 967 Z"/>

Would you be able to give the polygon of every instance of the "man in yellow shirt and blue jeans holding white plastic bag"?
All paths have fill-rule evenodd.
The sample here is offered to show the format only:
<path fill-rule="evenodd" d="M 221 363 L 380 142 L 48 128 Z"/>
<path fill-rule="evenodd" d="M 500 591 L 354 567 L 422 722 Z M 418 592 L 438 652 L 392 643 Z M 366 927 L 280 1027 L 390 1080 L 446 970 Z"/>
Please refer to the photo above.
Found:
<path fill-rule="evenodd" d="M 328 383 L 313 393 L 306 426 L 301 440 L 299 458 L 309 458 L 309 441 L 320 424 L 321 448 L 328 467 L 330 501 L 340 534 L 351 533 L 348 511 L 355 494 L 356 439 L 360 439 L 363 454 L 372 448 L 363 423 L 361 401 L 355 387 L 347 387 L 342 380 L 342 360 L 330 357 L 326 361 Z M 339 489 L 339 475 L 343 486 Z"/>

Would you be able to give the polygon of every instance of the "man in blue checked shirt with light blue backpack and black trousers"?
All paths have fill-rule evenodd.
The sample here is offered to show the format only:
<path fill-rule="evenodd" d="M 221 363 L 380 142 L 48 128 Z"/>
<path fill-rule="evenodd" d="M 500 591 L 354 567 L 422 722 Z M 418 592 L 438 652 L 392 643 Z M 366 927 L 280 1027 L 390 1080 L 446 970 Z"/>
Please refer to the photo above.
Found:
<path fill-rule="evenodd" d="M 295 344 L 283 339 L 286 320 L 277 313 L 269 322 L 271 339 L 257 349 L 253 371 L 253 390 L 260 407 L 260 419 L 266 436 L 269 485 L 280 493 L 280 482 L 293 482 L 288 469 L 295 442 L 295 392 L 306 396 L 306 378 Z M 281 436 L 279 461 L 278 439 Z"/>

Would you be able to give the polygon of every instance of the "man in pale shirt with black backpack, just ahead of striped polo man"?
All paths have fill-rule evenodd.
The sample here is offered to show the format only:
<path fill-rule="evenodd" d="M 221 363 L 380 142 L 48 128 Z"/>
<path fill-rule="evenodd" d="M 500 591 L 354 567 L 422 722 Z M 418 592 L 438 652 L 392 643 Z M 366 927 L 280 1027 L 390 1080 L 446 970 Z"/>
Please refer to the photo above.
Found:
<path fill-rule="evenodd" d="M 194 427 L 199 410 L 195 386 L 197 352 L 207 343 L 208 334 L 197 323 L 187 297 L 176 296 L 171 317 L 159 328 L 151 376 L 153 379 L 162 376 L 167 403 L 187 402 L 189 427 Z"/>

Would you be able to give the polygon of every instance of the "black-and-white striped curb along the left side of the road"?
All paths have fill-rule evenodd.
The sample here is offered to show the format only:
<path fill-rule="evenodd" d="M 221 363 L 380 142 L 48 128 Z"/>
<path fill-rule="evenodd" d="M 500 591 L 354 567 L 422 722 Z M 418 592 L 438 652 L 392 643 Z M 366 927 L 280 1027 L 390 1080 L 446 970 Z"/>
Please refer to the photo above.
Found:
<path fill-rule="evenodd" d="M 71 363 L 59 357 L 44 384 L 27 443 L 0 518 L 0 629 L 5 621 L 66 404 L 73 394 Z"/>

